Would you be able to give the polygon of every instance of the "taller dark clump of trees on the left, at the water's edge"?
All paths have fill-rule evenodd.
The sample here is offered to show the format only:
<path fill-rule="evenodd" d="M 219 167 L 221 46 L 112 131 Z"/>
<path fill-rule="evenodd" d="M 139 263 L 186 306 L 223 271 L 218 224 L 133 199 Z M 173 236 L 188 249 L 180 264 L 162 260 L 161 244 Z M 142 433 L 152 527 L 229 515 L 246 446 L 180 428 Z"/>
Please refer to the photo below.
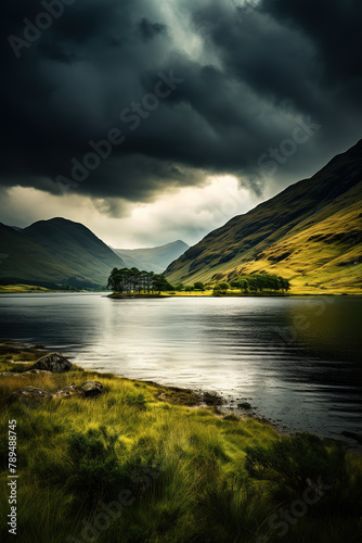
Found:
<path fill-rule="evenodd" d="M 161 290 L 174 290 L 166 277 L 154 272 L 138 268 L 113 268 L 108 277 L 107 289 L 120 294 L 160 293 Z"/>

